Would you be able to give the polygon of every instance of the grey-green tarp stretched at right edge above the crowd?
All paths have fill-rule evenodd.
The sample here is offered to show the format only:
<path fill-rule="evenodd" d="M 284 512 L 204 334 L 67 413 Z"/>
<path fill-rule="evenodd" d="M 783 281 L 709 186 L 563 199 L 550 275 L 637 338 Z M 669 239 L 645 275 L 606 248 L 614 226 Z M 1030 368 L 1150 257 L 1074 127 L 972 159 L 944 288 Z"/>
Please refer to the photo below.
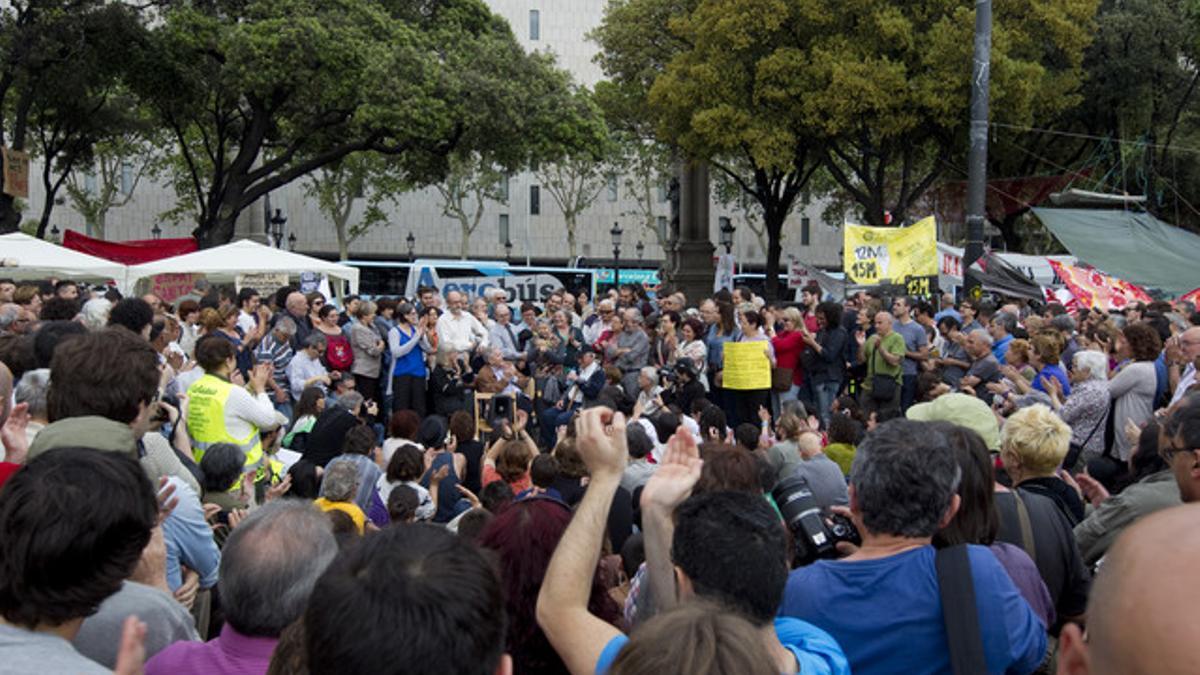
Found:
<path fill-rule="evenodd" d="M 1036 208 L 1070 255 L 1111 276 L 1180 295 L 1200 286 L 1200 235 L 1147 213 Z"/>

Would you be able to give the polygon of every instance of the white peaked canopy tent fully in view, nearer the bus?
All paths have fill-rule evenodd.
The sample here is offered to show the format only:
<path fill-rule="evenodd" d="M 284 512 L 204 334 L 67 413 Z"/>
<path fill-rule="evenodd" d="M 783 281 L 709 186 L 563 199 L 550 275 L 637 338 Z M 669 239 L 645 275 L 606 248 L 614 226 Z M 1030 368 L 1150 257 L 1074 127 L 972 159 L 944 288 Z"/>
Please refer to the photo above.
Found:
<path fill-rule="evenodd" d="M 133 265 L 128 268 L 126 279 L 128 287 L 133 288 L 139 280 L 157 274 L 203 274 L 212 281 L 229 282 L 240 274 L 275 273 L 299 279 L 300 273 L 304 271 L 314 271 L 331 279 L 348 281 L 350 293 L 359 292 L 359 270 L 356 268 L 264 246 L 250 239 Z"/>

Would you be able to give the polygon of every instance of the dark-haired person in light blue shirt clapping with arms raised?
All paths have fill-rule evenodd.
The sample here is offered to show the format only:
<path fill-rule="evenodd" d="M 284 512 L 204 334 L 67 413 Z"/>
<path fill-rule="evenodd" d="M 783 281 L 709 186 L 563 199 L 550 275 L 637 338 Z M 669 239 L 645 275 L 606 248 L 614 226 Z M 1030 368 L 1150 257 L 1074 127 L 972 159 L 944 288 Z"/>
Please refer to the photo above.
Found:
<path fill-rule="evenodd" d="M 606 673 L 629 643 L 587 607 L 605 519 L 625 468 L 625 444 L 622 414 L 589 408 L 580 416 L 577 448 L 592 479 L 538 596 L 538 623 L 571 673 Z M 678 587 L 682 601 L 698 596 L 748 619 L 776 673 L 848 674 L 846 657 L 828 634 L 804 621 L 775 619 L 788 554 L 774 509 L 743 492 L 689 498 L 702 462 L 686 430 L 672 437 L 666 456 L 642 492 L 647 566 L 659 609 L 674 604 Z"/>

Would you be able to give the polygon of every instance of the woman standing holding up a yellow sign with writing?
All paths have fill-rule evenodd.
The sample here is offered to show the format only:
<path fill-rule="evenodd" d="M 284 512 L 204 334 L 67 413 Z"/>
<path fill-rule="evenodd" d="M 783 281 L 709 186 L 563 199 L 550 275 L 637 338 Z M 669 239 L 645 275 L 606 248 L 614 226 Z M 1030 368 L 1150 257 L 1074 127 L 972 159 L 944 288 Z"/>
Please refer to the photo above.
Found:
<path fill-rule="evenodd" d="M 770 404 L 770 370 L 775 368 L 775 350 L 762 323 L 757 310 L 739 311 L 742 335 L 736 342 L 725 345 L 724 386 L 733 395 L 736 414 L 730 426 L 754 420 L 758 408 Z"/>

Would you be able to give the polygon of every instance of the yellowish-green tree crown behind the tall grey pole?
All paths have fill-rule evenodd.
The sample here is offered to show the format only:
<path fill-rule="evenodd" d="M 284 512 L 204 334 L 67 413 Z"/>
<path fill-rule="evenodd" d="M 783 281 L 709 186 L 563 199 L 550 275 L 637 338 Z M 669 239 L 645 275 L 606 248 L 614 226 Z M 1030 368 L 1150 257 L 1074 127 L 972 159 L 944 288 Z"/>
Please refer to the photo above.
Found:
<path fill-rule="evenodd" d="M 974 12 L 953 0 L 804 2 L 810 40 L 785 80 L 806 95 L 823 163 L 866 223 L 896 222 L 965 149 Z M 996 5 L 991 119 L 1054 120 L 1080 101 L 1097 0 Z M 950 165 L 953 166 L 953 165 Z"/>

